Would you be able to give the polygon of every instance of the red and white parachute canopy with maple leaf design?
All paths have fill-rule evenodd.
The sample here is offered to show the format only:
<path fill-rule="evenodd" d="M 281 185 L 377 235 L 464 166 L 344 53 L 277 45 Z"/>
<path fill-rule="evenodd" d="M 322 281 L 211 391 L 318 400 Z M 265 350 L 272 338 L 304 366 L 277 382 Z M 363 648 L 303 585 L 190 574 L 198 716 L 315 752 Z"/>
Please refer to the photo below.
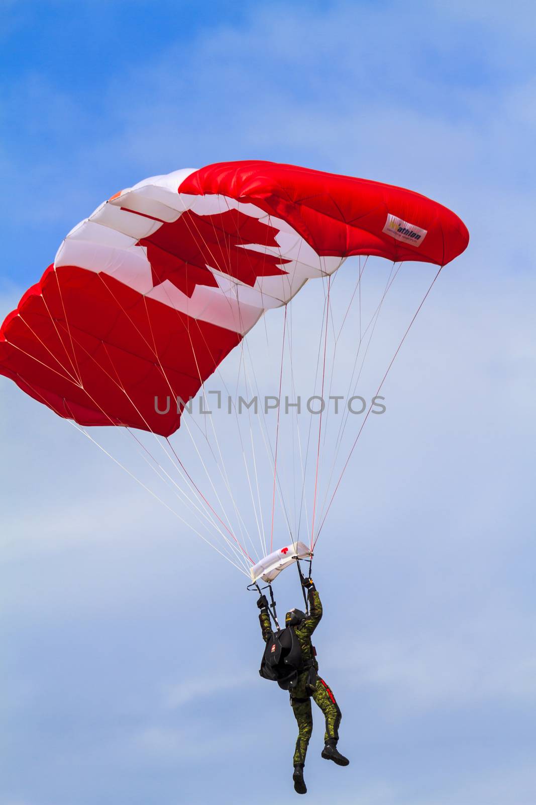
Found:
<path fill-rule="evenodd" d="M 354 254 L 444 266 L 468 244 L 418 193 L 261 161 L 154 176 L 64 239 L 0 331 L 0 373 L 80 425 L 169 436 L 268 308 Z M 155 398 L 177 405 L 162 414 Z"/>

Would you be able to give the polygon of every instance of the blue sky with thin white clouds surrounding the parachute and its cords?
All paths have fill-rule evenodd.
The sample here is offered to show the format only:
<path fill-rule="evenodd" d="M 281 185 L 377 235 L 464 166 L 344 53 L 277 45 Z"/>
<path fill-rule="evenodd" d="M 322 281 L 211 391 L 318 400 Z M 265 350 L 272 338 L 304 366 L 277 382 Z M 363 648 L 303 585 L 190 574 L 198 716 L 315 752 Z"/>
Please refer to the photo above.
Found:
<path fill-rule="evenodd" d="M 535 29 L 524 2 L 2 3 L 2 316 L 178 167 L 362 175 L 468 225 L 319 543 L 352 764 L 316 716 L 312 803 L 534 803 Z M 0 805 L 293 802 L 242 577 L 7 381 L 0 411 Z"/>

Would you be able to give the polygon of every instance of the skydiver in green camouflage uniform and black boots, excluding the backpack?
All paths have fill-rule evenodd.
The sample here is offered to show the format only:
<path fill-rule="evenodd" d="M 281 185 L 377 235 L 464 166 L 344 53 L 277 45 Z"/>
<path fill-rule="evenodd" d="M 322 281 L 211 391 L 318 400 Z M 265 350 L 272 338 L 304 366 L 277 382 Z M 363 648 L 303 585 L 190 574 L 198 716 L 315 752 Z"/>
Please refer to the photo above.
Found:
<path fill-rule="evenodd" d="M 291 609 L 284 618 L 285 625 L 294 630 L 301 646 L 301 668 L 303 669 L 297 676 L 296 684 L 289 691 L 290 704 L 298 725 L 298 737 L 293 758 L 294 790 L 298 794 L 307 793 L 303 771 L 309 738 L 313 732 L 311 697 L 325 716 L 325 746 L 322 749 L 322 758 L 332 760 L 338 766 L 348 766 L 350 762 L 337 749 L 338 727 L 341 723 L 342 714 L 332 691 L 324 679 L 321 679 L 318 675 L 318 663 L 315 658 L 316 651 L 313 649 L 311 642 L 311 635 L 322 617 L 320 596 L 311 578 L 305 578 L 303 585 L 307 590 L 310 614 L 306 615 L 301 612 L 301 609 Z M 266 596 L 260 596 L 257 606 L 260 609 L 259 620 L 263 639 L 264 642 L 268 642 L 272 638 L 273 632 Z"/>

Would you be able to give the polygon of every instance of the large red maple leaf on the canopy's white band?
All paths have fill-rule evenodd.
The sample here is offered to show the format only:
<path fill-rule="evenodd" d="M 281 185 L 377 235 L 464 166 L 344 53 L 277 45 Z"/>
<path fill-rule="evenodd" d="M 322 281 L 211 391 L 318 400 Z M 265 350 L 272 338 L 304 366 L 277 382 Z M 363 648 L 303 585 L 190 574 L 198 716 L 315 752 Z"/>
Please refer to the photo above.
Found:
<path fill-rule="evenodd" d="M 218 287 L 207 265 L 251 287 L 257 277 L 287 274 L 279 266 L 290 260 L 244 248 L 255 243 L 278 249 L 278 232 L 237 209 L 217 215 L 197 215 L 188 210 L 177 221 L 162 222 L 156 232 L 142 237 L 136 245 L 145 246 L 154 286 L 169 279 L 179 291 L 191 296 L 196 285 Z"/>

